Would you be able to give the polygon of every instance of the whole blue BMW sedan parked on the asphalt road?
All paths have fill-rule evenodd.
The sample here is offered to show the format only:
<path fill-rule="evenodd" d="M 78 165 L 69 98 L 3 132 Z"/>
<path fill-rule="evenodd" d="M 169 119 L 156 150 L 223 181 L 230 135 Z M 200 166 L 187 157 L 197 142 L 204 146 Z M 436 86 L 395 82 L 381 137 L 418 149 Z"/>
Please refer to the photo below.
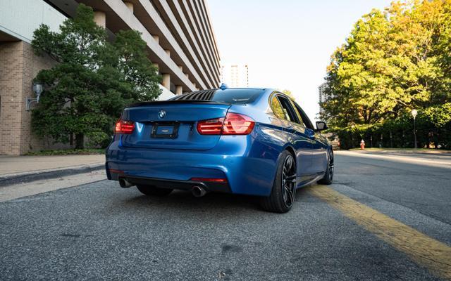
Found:
<path fill-rule="evenodd" d="M 106 174 L 144 195 L 174 189 L 257 195 L 292 208 L 297 188 L 333 180 L 333 150 L 295 100 L 273 89 L 213 89 L 126 107 Z"/>

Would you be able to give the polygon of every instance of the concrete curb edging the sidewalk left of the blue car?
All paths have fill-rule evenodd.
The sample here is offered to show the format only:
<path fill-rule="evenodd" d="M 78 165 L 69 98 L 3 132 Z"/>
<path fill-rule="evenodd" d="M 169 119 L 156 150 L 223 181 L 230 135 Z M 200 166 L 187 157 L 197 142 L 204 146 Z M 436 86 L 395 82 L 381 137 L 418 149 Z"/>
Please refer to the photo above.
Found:
<path fill-rule="evenodd" d="M 98 171 L 101 169 L 105 169 L 105 163 L 69 166 L 61 169 L 49 169 L 49 170 L 30 171 L 18 174 L 0 175 L 0 188 L 6 185 L 14 185 L 18 183 L 30 183 L 31 181 L 39 181 L 49 178 L 59 178 L 61 176 L 89 173 L 91 171 Z"/>

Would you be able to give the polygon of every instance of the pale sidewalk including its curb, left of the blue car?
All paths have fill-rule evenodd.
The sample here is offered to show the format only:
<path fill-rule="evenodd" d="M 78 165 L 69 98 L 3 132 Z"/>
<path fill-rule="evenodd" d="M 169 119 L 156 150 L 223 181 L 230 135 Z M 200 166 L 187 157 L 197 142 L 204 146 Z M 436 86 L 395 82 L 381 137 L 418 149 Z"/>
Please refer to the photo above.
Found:
<path fill-rule="evenodd" d="M 0 186 L 104 169 L 105 155 L 0 156 Z"/>

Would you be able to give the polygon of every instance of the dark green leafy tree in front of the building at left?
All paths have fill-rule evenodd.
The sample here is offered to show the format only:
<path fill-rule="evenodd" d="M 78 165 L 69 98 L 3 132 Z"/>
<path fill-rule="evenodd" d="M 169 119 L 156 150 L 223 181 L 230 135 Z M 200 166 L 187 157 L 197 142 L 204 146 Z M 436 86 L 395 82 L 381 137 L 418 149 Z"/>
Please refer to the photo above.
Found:
<path fill-rule="evenodd" d="M 44 82 L 44 92 L 32 111 L 32 128 L 63 143 L 75 136 L 76 148 L 84 147 L 85 136 L 91 146 L 105 145 L 125 105 L 159 96 L 160 77 L 139 32 L 118 32 L 110 43 L 88 6 L 80 4 L 60 30 L 41 25 L 34 32 L 35 53 L 56 63 L 35 78 Z"/>

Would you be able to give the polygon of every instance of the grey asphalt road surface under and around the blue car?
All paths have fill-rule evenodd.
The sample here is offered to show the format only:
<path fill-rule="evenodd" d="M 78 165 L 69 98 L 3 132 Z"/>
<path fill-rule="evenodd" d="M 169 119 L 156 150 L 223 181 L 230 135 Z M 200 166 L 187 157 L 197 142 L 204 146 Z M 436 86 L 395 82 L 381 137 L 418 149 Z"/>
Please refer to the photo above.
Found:
<path fill-rule="evenodd" d="M 335 165 L 332 190 L 451 246 L 450 156 L 339 152 Z M 261 211 L 254 197 L 150 198 L 110 181 L 0 202 L 0 280 L 446 277 L 325 201 L 321 188 L 298 190 L 288 214 Z"/>

